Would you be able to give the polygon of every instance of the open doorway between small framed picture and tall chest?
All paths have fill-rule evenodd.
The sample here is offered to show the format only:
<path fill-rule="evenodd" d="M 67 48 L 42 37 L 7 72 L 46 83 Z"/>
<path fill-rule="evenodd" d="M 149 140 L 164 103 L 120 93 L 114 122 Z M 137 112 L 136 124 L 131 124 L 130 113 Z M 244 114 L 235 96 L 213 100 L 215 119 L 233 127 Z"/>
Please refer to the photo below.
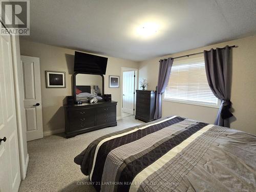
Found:
<path fill-rule="evenodd" d="M 122 68 L 122 118 L 135 115 L 137 69 Z"/>

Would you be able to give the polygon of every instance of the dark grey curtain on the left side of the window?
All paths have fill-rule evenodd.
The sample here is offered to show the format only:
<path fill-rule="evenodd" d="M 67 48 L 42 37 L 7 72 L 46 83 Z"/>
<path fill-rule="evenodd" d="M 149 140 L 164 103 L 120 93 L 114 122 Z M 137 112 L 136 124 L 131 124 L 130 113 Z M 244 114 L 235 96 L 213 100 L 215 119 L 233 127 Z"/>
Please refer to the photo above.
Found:
<path fill-rule="evenodd" d="M 173 58 L 160 60 L 157 83 L 156 111 L 154 119 L 159 119 L 162 117 L 162 94 L 168 84 L 170 77 L 170 69 L 172 69 L 173 62 Z"/>

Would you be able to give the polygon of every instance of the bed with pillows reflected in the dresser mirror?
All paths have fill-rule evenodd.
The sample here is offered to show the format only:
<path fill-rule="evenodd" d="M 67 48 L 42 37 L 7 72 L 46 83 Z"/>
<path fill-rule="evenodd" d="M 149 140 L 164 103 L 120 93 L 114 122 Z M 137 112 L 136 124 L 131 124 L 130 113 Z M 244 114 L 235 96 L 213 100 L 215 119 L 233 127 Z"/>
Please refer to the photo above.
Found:
<path fill-rule="evenodd" d="M 90 97 L 102 100 L 102 97 L 91 93 L 91 86 L 76 86 L 76 100 L 88 101 Z"/>

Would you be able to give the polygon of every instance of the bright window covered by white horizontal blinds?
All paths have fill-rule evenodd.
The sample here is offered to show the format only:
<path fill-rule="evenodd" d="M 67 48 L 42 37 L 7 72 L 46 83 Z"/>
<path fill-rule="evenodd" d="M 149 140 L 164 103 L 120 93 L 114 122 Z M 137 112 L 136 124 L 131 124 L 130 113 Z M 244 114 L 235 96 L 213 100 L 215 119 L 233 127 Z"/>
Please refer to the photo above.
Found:
<path fill-rule="evenodd" d="M 211 92 L 207 82 L 203 57 L 174 61 L 164 100 L 219 106 L 219 99 Z"/>

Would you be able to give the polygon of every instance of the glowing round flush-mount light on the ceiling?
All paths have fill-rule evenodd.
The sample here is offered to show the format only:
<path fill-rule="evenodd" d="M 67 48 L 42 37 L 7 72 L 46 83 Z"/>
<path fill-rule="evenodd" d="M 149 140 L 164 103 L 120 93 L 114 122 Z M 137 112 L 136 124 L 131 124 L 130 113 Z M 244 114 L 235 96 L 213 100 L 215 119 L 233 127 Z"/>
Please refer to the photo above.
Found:
<path fill-rule="evenodd" d="M 136 33 L 142 38 L 155 36 L 159 26 L 156 23 L 144 23 L 137 27 Z"/>

